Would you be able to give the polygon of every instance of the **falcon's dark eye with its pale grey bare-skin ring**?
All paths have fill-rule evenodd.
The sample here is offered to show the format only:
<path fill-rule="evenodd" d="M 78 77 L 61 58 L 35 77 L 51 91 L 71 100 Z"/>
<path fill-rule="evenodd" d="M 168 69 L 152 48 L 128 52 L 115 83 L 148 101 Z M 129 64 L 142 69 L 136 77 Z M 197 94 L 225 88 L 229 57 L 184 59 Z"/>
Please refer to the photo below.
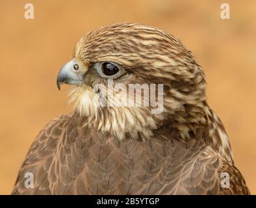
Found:
<path fill-rule="evenodd" d="M 124 73 L 123 68 L 114 62 L 96 62 L 94 64 L 94 68 L 101 75 L 101 77 L 108 79 L 116 79 Z"/>

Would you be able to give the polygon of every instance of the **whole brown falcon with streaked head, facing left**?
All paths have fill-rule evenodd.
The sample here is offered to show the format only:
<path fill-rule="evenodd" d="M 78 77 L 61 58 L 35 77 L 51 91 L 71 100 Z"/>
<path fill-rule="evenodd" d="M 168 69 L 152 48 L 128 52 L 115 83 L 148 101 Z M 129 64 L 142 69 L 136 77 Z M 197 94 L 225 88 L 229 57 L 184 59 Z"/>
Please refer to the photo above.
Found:
<path fill-rule="evenodd" d="M 109 94 L 110 83 L 122 87 Z M 59 71 L 62 84 L 74 110 L 40 131 L 12 194 L 249 194 L 202 67 L 178 38 L 139 23 L 91 31 Z M 145 86 L 143 105 L 130 105 L 131 84 Z"/>

